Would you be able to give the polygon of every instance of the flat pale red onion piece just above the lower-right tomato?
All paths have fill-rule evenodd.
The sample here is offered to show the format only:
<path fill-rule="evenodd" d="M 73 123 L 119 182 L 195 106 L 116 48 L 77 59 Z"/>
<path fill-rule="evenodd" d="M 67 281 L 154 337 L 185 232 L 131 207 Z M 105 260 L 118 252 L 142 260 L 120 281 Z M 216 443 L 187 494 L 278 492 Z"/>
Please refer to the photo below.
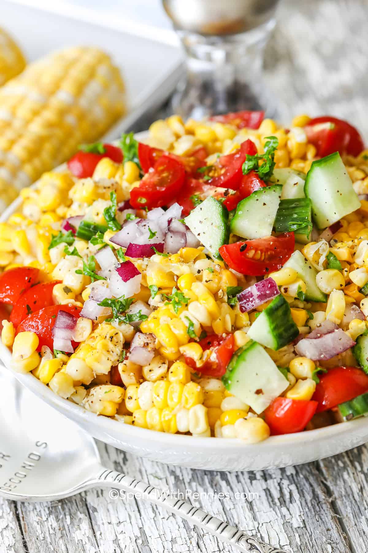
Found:
<path fill-rule="evenodd" d="M 312 361 L 327 361 L 353 346 L 355 346 L 354 340 L 342 328 L 337 328 L 319 338 L 303 338 L 295 346 L 295 351 Z"/>

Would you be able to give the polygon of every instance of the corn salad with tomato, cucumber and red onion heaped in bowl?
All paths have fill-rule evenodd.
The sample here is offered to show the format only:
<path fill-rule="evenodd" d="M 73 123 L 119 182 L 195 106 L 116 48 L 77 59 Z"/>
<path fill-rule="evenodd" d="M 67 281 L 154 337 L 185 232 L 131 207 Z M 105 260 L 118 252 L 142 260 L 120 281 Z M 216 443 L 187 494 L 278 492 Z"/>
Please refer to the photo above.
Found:
<path fill-rule="evenodd" d="M 227 232 L 226 238 L 221 238 L 221 247 L 214 246 L 212 238 L 200 235 L 198 225 L 202 221 L 192 224 L 193 214 L 207 201 L 212 202 L 209 206 L 216 202 L 218 212 L 226 212 L 227 221 L 224 206 L 238 194 L 239 185 L 226 186 L 230 182 L 226 180 L 226 163 L 244 147 L 250 149 L 244 156 L 245 163 L 253 163 L 252 175 L 260 185 L 243 199 L 238 197 L 238 202 L 268 193 L 271 188 L 279 190 L 281 179 L 275 179 L 275 175 L 280 175 L 281 169 L 297 171 L 292 175 L 302 175 L 303 180 L 310 171 L 308 179 L 311 168 L 318 167 L 313 162 L 318 164 L 323 157 L 318 155 L 320 145 L 308 130 L 311 123 L 302 115 L 286 129 L 263 119 L 254 129 L 238 128 L 226 119 L 183 122 L 171 116 L 152 124 L 149 145 L 137 144 L 132 135 L 123 137 L 122 163 L 106 154 L 85 178 L 77 178 L 63 166 L 44 173 L 35 187 L 23 189 L 22 206 L 7 222 L 0 223 L 0 298 L 13 305 L 9 320 L 2 323 L 2 342 L 12 349 L 13 369 L 33 373 L 62 398 L 113 418 L 116 424 L 171 434 L 231 437 L 254 444 L 270 434 L 317 427 L 318 415 L 313 417 L 316 409 L 317 413 L 332 409 L 331 421 L 336 422 L 337 406 L 349 403 L 358 394 L 340 394 L 337 403 L 327 405 L 320 384 L 324 378 L 332 378 L 334 371 L 339 371 L 339 382 L 348 386 L 349 378 L 359 373 L 361 393 L 368 391 L 366 369 L 360 368 L 359 351 L 355 346 L 354 356 L 352 348 L 367 334 L 368 152 L 342 152 L 344 171 L 349 182 L 351 179 L 351 194 L 358 208 L 346 213 L 338 224 L 332 221 L 326 231 L 316 226 L 317 211 L 313 210 L 317 200 L 316 204 L 312 200 L 313 229 L 307 225 L 304 234 L 299 225 L 294 230 L 289 228 L 284 232 L 286 238 L 282 238 L 284 234 L 277 231 L 279 215 L 276 231 L 271 222 L 270 237 L 261 237 L 261 241 L 281 244 L 277 241 L 285 239 L 286 244 L 292 237 L 287 254 L 289 246 L 280 246 L 282 263 L 274 262 L 275 254 L 253 246 L 259 242 L 257 229 L 254 238 L 247 236 L 245 240 L 233 232 L 233 221 L 239 218 L 237 205 L 235 214 L 230 212 L 230 233 L 228 226 L 221 231 Z M 270 142 L 275 145 L 271 153 Z M 159 158 L 158 149 L 167 153 Z M 86 155 L 96 152 L 101 153 L 98 144 Z M 156 152 L 158 161 L 152 161 L 153 169 L 145 166 L 147 156 L 143 163 L 144 152 Z M 262 165 L 265 159 L 273 164 L 269 177 Z M 200 185 L 185 199 L 189 184 L 187 176 L 184 184 L 180 181 L 182 177 L 184 180 L 182 168 L 188 175 L 188 165 L 193 170 L 195 162 L 195 178 Z M 152 175 L 159 171 L 158 163 L 166 164 L 173 174 L 176 171 L 177 188 L 171 200 L 166 196 L 167 181 L 158 184 L 161 199 L 154 196 L 150 185 Z M 247 175 L 245 170 L 243 165 L 239 179 Z M 214 185 L 218 182 L 222 186 Z M 242 182 L 244 186 L 248 181 L 243 178 Z M 164 221 L 166 211 L 157 208 L 172 205 L 170 210 L 178 210 L 178 204 L 179 212 L 166 220 L 162 231 L 155 221 Z M 160 218 L 155 220 L 154 213 Z M 190 234 L 182 245 L 178 234 L 183 232 L 183 217 L 187 227 L 184 232 Z M 199 219 L 205 217 L 203 213 Z M 173 221 L 179 231 L 173 230 Z M 243 225 L 244 220 L 241 222 Z M 136 235 L 124 243 L 119 236 L 127 228 L 130 232 L 145 228 L 150 233 L 148 241 L 154 244 L 148 248 L 154 252 L 147 254 L 145 249 L 143 254 L 147 244 L 140 243 Z M 233 258 L 227 253 L 237 244 L 243 244 L 241 253 L 248 247 L 248 258 L 242 257 L 242 262 L 246 259 L 253 263 L 243 270 L 234 268 Z M 141 255 L 137 255 L 138 250 Z M 101 252 L 106 257 L 101 257 Z M 305 261 L 308 275 L 314 275 L 312 281 L 308 280 L 310 276 L 303 279 L 302 270 L 288 262 L 291 254 Z M 112 259 L 108 267 L 107 258 Z M 264 265 L 268 267 L 259 269 Z M 32 271 L 27 273 L 32 276 L 26 276 L 26 289 L 25 268 Z M 119 280 L 122 268 L 129 269 L 133 276 Z M 18 293 L 12 276 L 9 293 L 7 275 L 15 274 L 17 279 L 23 278 L 23 284 L 19 284 Z M 272 281 L 273 296 L 260 300 L 260 284 L 266 279 Z M 113 281 L 115 286 L 118 282 L 117 288 L 113 288 Z M 133 285 L 133 281 L 138 284 Z M 127 290 L 127 283 L 131 284 L 130 293 L 118 294 L 116 290 Z M 42 296 L 39 286 L 44 287 Z M 103 299 L 98 294 L 103 294 Z M 244 298 L 249 294 L 255 303 L 244 309 Z M 291 332 L 289 337 L 273 326 L 275 302 L 285 314 L 291 329 L 287 331 Z M 70 334 L 62 329 L 67 338 L 64 333 L 64 342 L 57 343 L 71 346 L 69 351 L 55 346 L 59 330 L 55 321 L 64 311 L 76 322 Z M 263 328 L 269 325 L 271 336 L 259 330 L 261 320 Z M 323 330 L 326 324 L 328 332 Z M 331 346 L 319 341 L 337 332 L 339 336 L 342 333 L 349 347 L 341 352 L 337 348 L 330 355 L 323 353 L 327 351 L 324 347 Z M 309 351 L 311 342 L 316 345 L 308 356 L 303 352 Z M 317 343 L 322 346 L 317 347 Z M 315 354 L 316 347 L 322 354 Z M 248 361 L 250 353 L 253 357 Z M 239 363 L 243 363 L 240 369 Z M 263 377 L 259 367 L 268 367 L 270 373 Z M 240 387 L 246 374 L 252 382 L 242 382 Z M 280 414 L 283 407 L 289 409 L 284 419 Z"/>

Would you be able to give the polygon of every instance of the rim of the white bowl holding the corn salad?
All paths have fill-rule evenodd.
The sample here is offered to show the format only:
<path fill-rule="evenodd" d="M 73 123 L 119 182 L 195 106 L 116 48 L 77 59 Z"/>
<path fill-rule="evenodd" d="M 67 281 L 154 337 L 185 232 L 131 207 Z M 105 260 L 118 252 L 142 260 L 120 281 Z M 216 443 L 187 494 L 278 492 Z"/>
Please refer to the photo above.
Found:
<path fill-rule="evenodd" d="M 141 133 L 136 133 L 135 137 L 141 140 L 145 140 L 148 137 L 148 131 L 143 131 Z M 117 141 L 114 141 L 117 143 Z M 63 163 L 57 168 L 53 169 L 54 171 L 63 171 L 66 169 L 66 163 Z M 31 185 L 32 188 L 36 187 L 40 179 L 34 182 Z M 12 213 L 14 213 L 20 205 L 22 205 L 23 199 L 18 196 L 12 204 L 10 204 L 6 210 L 0 216 L 0 222 L 6 222 Z M 10 360 L 12 354 L 10 349 L 3 345 L 0 340 L 0 360 L 4 363 L 4 366 L 9 370 L 19 382 L 25 385 L 31 392 L 35 395 L 38 395 L 43 400 L 46 401 L 52 407 L 60 408 L 63 414 L 66 414 L 68 411 L 73 415 L 73 420 L 81 420 L 81 422 L 88 422 L 89 424 L 97 425 L 102 427 L 106 434 L 113 436 L 118 431 L 120 434 L 129 439 L 134 437 L 136 439 L 145 440 L 145 442 L 159 442 L 161 445 L 167 447 L 175 448 L 175 445 L 178 446 L 191 446 L 200 447 L 201 449 L 210 449 L 213 448 L 215 444 L 218 444 L 218 447 L 222 450 L 224 447 L 232 447 L 241 451 L 255 452 L 255 446 L 259 453 L 262 453 L 262 449 L 276 448 L 287 445 L 310 445 L 316 440 L 324 440 L 331 438 L 342 437 L 343 435 L 349 435 L 352 432 L 359 432 L 362 427 L 367 424 L 366 418 L 363 416 L 359 419 L 352 421 L 344 421 L 334 425 L 324 426 L 319 429 L 294 432 L 293 434 L 282 434 L 278 436 L 270 436 L 268 439 L 258 442 L 258 444 L 246 444 L 238 438 L 221 438 L 214 443 L 215 438 L 211 437 L 195 437 L 188 436 L 186 434 L 170 434 L 168 432 L 159 432 L 157 430 L 150 430 L 141 427 L 137 427 L 130 424 L 125 424 L 124 422 L 111 419 L 110 417 L 97 415 L 87 409 L 84 409 L 81 405 L 74 403 L 71 400 L 61 398 L 60 395 L 55 394 L 52 390 L 42 383 L 39 379 L 35 378 L 33 374 L 26 373 L 21 374 L 12 371 L 10 368 Z M 119 426 L 118 426 L 119 425 Z M 261 450 L 261 451 L 259 451 Z"/>

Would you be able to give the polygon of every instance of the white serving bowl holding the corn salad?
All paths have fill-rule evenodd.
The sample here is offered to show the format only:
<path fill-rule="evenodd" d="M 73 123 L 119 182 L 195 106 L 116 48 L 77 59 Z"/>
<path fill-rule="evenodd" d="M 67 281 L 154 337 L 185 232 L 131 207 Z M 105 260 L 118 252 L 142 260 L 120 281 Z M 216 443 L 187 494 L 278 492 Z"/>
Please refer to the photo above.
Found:
<path fill-rule="evenodd" d="M 142 139 L 145 136 L 142 133 L 139 137 Z M 65 165 L 60 169 L 65 169 Z M 6 221 L 21 204 L 20 198 L 15 200 L 0 217 L 0 222 Z M 11 353 L 1 342 L 0 359 L 11 370 Z M 368 420 L 364 417 L 318 430 L 273 436 L 255 445 L 246 445 L 237 439 L 166 434 L 89 413 L 56 395 L 33 374 L 14 375 L 31 392 L 98 440 L 170 465 L 216 471 L 254 471 L 316 461 L 368 441 Z"/>

